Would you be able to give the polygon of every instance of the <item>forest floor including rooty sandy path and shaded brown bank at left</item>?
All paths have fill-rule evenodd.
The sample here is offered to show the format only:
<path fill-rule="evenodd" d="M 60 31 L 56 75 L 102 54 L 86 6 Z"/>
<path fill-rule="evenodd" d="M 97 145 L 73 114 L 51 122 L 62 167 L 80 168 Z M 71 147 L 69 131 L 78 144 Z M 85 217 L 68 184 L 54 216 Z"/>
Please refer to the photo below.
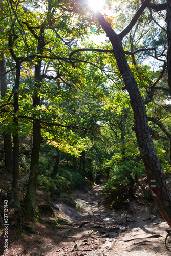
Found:
<path fill-rule="evenodd" d="M 168 224 L 151 213 L 153 203 L 137 197 L 128 208 L 108 209 L 101 190 L 102 185 L 93 185 L 74 191 L 70 196 L 77 203 L 76 208 L 61 200 L 52 202 L 55 217 L 47 209 L 46 213 L 42 212 L 42 219 L 60 218 L 66 222 L 55 228 L 47 223 L 27 221 L 35 233 L 24 228 L 16 211 L 9 206 L 9 216 L 14 216 L 8 226 L 8 251 L 4 251 L 5 232 L 1 230 L 0 255 L 171 255 L 171 238 L 167 239 L 167 247 L 164 243 Z M 37 191 L 36 200 L 47 204 L 49 199 Z"/>

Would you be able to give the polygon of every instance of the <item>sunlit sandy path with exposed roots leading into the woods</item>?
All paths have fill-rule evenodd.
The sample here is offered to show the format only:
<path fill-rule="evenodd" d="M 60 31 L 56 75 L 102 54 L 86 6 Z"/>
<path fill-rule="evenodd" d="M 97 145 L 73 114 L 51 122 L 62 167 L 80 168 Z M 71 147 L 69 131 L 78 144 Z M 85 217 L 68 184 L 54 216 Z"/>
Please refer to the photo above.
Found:
<path fill-rule="evenodd" d="M 101 204 L 101 190 L 102 185 L 94 185 L 92 189 L 76 190 L 71 195 L 82 212 L 61 203 L 63 216 L 74 225 L 70 232 L 74 242 L 70 247 L 67 242 L 68 248 L 63 244 L 64 254 L 171 255 L 169 243 L 168 248 L 164 245 L 168 225 L 162 218 L 150 214 L 148 205 L 138 201 L 130 203 L 131 213 L 124 209 L 106 209 Z M 72 252 L 74 245 L 77 248 Z"/>

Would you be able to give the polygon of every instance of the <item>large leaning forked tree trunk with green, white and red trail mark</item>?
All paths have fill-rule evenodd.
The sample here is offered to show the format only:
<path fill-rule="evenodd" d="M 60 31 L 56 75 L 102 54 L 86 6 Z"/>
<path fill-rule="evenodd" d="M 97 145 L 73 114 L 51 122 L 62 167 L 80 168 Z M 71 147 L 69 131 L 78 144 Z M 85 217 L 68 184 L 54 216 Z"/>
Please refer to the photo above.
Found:
<path fill-rule="evenodd" d="M 88 2 L 79 0 L 79 2 L 89 9 Z M 122 39 L 126 33 L 130 32 L 132 27 L 135 25 L 136 20 L 141 15 L 143 9 L 149 1 L 143 1 L 140 11 L 138 11 L 133 20 L 127 26 L 127 28 L 117 35 L 112 29 L 111 25 L 105 21 L 103 15 L 99 12 L 93 12 L 94 16 L 98 19 L 103 30 L 106 32 L 106 36 L 109 37 L 113 46 L 114 57 L 117 61 L 118 69 L 123 78 L 126 90 L 130 95 L 130 102 L 134 112 L 134 126 L 136 137 L 140 149 L 140 156 L 143 160 L 148 182 L 151 187 L 154 201 L 169 226 L 171 226 L 171 193 L 165 181 L 163 170 L 158 159 L 158 156 L 154 150 L 151 134 L 148 128 L 147 116 L 144 101 L 141 97 L 140 91 L 137 86 L 137 82 L 134 79 L 129 65 L 126 61 L 124 50 L 122 47 Z M 171 42 L 171 40 L 170 40 Z"/>

